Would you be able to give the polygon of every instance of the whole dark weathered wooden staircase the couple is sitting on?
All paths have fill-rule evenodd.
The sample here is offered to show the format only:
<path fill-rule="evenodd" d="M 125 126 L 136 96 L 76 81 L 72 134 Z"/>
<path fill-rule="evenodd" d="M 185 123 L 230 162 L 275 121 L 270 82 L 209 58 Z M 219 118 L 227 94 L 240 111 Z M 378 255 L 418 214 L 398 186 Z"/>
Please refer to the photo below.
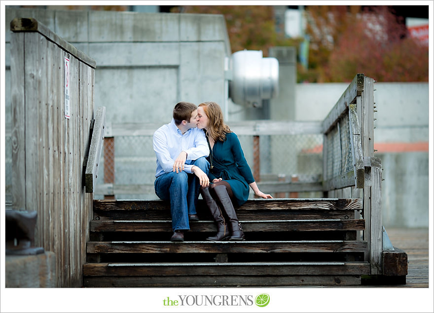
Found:
<path fill-rule="evenodd" d="M 245 241 L 217 231 L 203 200 L 184 242 L 171 242 L 169 203 L 94 200 L 84 287 L 360 285 L 370 274 L 362 199 L 250 199 L 237 209 Z"/>

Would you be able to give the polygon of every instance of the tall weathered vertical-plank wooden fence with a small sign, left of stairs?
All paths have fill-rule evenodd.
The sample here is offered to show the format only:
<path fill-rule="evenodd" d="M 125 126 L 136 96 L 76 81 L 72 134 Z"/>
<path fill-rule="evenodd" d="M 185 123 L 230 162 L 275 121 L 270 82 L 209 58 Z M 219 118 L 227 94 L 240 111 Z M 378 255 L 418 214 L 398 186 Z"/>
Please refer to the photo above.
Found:
<path fill-rule="evenodd" d="M 35 245 L 55 252 L 56 286 L 81 287 L 96 63 L 35 19 L 10 27 L 12 208 L 37 211 Z"/>

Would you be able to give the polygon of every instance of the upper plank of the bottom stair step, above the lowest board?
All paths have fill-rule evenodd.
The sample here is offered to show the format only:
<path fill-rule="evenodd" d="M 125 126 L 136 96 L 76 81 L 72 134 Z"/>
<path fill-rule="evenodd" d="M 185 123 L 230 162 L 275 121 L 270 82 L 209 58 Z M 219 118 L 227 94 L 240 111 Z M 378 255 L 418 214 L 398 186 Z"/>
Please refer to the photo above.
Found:
<path fill-rule="evenodd" d="M 87 263 L 84 276 L 361 275 L 367 262 Z"/>

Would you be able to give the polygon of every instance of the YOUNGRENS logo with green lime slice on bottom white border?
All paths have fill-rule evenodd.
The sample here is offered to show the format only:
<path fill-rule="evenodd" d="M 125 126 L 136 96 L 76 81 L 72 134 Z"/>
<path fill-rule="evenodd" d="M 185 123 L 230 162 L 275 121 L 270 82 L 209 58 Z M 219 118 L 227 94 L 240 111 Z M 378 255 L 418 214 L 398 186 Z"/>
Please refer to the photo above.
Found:
<path fill-rule="evenodd" d="M 163 299 L 164 306 L 253 306 L 265 307 L 270 296 L 262 293 L 252 295 L 178 295 L 178 298 Z"/>

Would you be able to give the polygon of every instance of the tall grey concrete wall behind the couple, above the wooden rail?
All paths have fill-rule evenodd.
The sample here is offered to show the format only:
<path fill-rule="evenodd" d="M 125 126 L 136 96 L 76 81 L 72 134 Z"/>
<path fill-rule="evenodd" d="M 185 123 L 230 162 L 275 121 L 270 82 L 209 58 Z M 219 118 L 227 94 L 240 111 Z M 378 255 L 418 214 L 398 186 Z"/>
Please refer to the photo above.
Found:
<path fill-rule="evenodd" d="M 6 66 L 15 17 L 36 18 L 96 61 L 95 107 L 108 122 L 167 123 L 179 101 L 225 103 L 222 15 L 6 8 Z"/>

